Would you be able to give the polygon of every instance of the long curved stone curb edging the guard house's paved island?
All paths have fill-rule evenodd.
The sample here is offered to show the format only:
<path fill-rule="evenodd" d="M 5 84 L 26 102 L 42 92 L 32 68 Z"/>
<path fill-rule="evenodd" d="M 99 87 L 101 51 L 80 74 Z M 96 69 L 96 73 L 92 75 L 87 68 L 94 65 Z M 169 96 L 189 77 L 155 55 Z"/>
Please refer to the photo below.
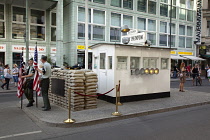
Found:
<path fill-rule="evenodd" d="M 170 107 L 170 108 L 163 108 L 163 109 L 157 109 L 157 110 L 150 110 L 150 111 L 145 111 L 145 112 L 140 112 L 140 113 L 134 113 L 134 114 L 127 114 L 127 115 L 122 115 L 119 117 L 111 116 L 110 118 L 103 118 L 99 120 L 92 120 L 88 122 L 76 122 L 73 124 L 65 124 L 65 123 L 52 123 L 52 122 L 46 122 L 43 121 L 30 112 L 27 111 L 27 109 L 23 108 L 23 111 L 33 120 L 42 124 L 45 124 L 47 126 L 51 127 L 63 127 L 63 128 L 68 128 L 68 127 L 82 127 L 82 126 L 89 126 L 89 125 L 95 125 L 95 124 L 101 124 L 101 123 L 107 123 L 107 122 L 112 122 L 112 121 L 117 121 L 117 120 L 123 120 L 123 119 L 129 119 L 129 118 L 134 118 L 134 117 L 140 117 L 140 116 L 147 116 L 147 115 L 152 115 L 152 114 L 158 114 L 158 113 L 164 113 L 164 112 L 169 112 L 169 111 L 176 111 L 180 109 L 185 109 L 185 108 L 191 108 L 191 107 L 196 107 L 196 106 L 202 106 L 202 105 L 207 105 L 210 104 L 210 101 L 207 102 L 201 102 L 201 103 L 194 103 L 194 104 L 189 104 L 189 105 L 182 105 L 182 106 L 176 106 L 176 107 Z"/>

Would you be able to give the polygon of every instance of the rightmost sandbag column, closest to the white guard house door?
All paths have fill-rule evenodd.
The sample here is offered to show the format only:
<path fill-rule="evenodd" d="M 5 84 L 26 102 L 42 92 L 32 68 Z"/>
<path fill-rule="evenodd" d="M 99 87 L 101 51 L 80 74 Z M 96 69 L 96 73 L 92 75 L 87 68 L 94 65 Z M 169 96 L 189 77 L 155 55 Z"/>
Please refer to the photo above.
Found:
<path fill-rule="evenodd" d="M 85 109 L 97 108 L 97 82 L 98 76 L 95 72 L 85 73 Z"/>

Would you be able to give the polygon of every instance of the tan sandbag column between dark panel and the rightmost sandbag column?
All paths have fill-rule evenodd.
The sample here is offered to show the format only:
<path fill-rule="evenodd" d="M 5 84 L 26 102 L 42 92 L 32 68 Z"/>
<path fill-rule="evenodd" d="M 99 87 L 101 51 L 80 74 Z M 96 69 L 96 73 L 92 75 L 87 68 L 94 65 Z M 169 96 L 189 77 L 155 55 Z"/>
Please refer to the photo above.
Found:
<path fill-rule="evenodd" d="M 66 80 L 66 87 L 71 88 L 71 108 L 73 111 L 84 110 L 84 96 L 78 95 L 77 93 L 85 94 L 84 90 L 84 71 L 73 70 L 69 71 L 69 78 Z"/>

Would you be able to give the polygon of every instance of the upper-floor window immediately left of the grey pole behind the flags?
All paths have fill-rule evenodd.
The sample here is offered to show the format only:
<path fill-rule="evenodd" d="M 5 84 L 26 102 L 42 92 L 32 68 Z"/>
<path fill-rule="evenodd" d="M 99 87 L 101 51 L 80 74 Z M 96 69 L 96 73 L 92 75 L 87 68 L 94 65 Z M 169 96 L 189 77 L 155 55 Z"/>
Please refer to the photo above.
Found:
<path fill-rule="evenodd" d="M 12 38 L 13 39 L 24 39 L 26 30 L 26 16 L 25 8 L 12 7 L 13 18 L 12 18 Z"/>

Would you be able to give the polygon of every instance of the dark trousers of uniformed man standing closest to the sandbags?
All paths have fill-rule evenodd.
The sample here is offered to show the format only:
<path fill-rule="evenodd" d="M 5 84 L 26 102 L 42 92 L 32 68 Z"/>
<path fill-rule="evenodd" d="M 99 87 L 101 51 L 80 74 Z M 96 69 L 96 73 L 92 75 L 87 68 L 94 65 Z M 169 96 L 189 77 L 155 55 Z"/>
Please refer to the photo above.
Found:
<path fill-rule="evenodd" d="M 50 101 L 49 101 L 49 98 L 48 98 L 49 84 L 50 84 L 50 79 L 49 78 L 41 80 L 42 97 L 43 97 L 44 107 L 46 109 L 51 108 Z"/>

